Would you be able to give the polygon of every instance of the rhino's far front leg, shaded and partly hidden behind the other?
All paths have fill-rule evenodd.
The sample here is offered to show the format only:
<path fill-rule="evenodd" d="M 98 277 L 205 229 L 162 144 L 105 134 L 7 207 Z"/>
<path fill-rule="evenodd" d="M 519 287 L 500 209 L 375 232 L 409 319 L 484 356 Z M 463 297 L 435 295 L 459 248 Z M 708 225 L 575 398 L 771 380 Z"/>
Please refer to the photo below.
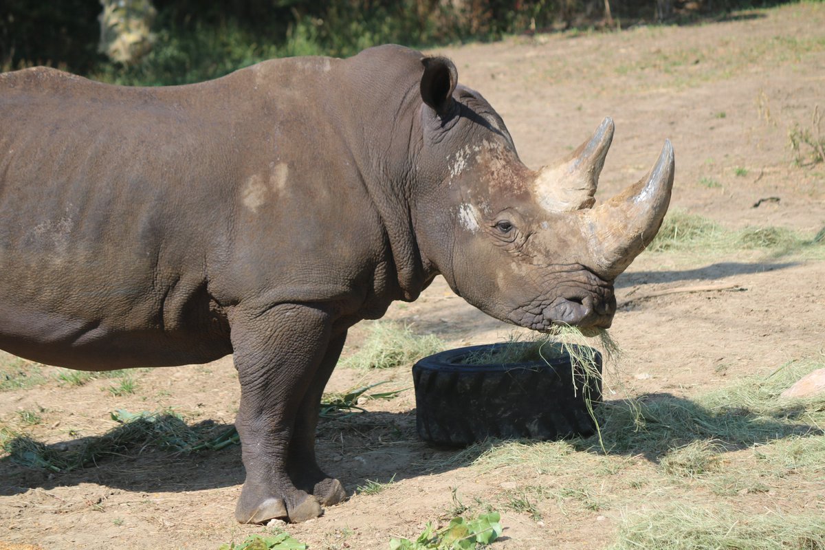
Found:
<path fill-rule="evenodd" d="M 318 427 L 323 388 L 327 386 L 332 369 L 335 369 L 346 339 L 345 331 L 342 335 L 332 338 L 329 343 L 327 354 L 324 355 L 313 383 L 301 402 L 287 463 L 287 470 L 295 486 L 312 493 L 323 505 L 338 504 L 347 498 L 347 491 L 344 491 L 341 482 L 324 473 L 318 467 L 315 458 L 315 431 Z"/>

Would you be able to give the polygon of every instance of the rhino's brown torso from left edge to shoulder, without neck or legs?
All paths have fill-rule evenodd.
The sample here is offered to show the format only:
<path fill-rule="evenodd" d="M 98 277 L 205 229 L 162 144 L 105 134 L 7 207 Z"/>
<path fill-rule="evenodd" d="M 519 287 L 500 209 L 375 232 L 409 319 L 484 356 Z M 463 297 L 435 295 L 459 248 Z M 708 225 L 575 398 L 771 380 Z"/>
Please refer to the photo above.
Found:
<path fill-rule="evenodd" d="M 319 74 L 3 75 L 0 346 L 89 369 L 191 363 L 231 351 L 226 308 L 243 300 L 356 308 L 382 236 L 369 207 L 346 208 L 364 205 L 357 170 L 334 121 L 299 109 L 318 88 L 304 73 Z"/>

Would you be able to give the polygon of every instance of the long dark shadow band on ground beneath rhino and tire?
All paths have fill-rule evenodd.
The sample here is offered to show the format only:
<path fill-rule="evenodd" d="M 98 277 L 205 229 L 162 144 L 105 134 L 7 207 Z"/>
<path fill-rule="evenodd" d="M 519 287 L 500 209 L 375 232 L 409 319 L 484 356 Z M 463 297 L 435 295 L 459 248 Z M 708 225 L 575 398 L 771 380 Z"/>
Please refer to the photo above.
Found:
<path fill-rule="evenodd" d="M 713 441 L 719 452 L 731 452 L 775 440 L 823 435 L 823 430 L 799 422 L 803 413 L 804 407 L 794 403 L 766 414 L 743 407 L 709 409 L 683 397 L 655 393 L 634 402 L 612 401 L 602 405 L 598 414 L 605 450 L 595 436 L 573 439 L 570 443 L 580 452 L 643 456 L 658 463 L 672 449 L 696 441 Z M 231 427 L 214 425 L 218 431 L 231 430 Z M 100 445 L 107 437 L 111 437 L 111 433 L 46 445 L 46 456 Z M 366 411 L 323 421 L 318 429 L 318 459 L 351 492 L 366 480 L 400 481 L 463 468 L 503 443 L 487 440 L 465 449 L 433 447 L 417 438 L 414 410 Z M 12 441 L 12 447 L 14 444 Z M 34 487 L 50 489 L 81 483 L 128 491 L 197 491 L 237 486 L 244 478 L 237 444 L 221 450 L 183 454 L 138 442 L 70 472 L 31 468 L 31 457 L 24 456 L 22 462 L 26 460 L 29 467 L 19 463 L 19 454 L 0 459 L 0 477 L 8 480 L 0 487 L 0 495 L 13 495 Z"/>

